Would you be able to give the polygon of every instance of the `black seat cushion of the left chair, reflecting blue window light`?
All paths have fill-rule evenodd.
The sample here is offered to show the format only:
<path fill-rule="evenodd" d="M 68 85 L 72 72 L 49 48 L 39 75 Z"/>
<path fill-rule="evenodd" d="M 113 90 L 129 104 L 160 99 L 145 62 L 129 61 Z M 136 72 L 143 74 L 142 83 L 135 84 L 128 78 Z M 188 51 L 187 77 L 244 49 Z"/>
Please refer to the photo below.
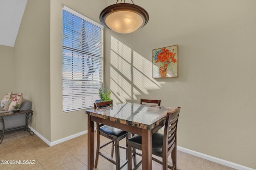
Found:
<path fill-rule="evenodd" d="M 115 138 L 122 138 L 124 136 L 127 136 L 128 134 L 130 134 L 130 132 L 126 132 L 123 131 L 121 129 L 115 128 L 115 127 L 111 127 L 111 126 L 103 126 L 99 129 L 100 133 L 105 133 L 111 137 L 115 137 Z"/>

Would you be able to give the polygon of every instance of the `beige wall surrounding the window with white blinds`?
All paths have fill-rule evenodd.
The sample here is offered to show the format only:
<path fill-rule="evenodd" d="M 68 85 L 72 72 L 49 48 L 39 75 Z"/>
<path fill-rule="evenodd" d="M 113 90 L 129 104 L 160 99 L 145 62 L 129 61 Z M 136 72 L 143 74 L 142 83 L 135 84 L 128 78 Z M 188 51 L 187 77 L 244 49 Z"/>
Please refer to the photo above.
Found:
<path fill-rule="evenodd" d="M 56 141 L 87 129 L 85 110 L 62 112 L 62 7 L 100 23 L 99 14 L 104 7 L 102 0 L 51 1 L 50 77 L 51 77 L 51 141 Z"/>

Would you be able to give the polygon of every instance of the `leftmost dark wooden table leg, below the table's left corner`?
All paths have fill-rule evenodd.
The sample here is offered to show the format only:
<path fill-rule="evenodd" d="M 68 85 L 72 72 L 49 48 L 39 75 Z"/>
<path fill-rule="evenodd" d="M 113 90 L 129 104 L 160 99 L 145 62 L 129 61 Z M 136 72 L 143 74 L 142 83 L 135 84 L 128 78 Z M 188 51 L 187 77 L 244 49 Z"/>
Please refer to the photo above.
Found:
<path fill-rule="evenodd" d="M 94 122 L 91 115 L 88 115 L 88 170 L 94 168 Z"/>

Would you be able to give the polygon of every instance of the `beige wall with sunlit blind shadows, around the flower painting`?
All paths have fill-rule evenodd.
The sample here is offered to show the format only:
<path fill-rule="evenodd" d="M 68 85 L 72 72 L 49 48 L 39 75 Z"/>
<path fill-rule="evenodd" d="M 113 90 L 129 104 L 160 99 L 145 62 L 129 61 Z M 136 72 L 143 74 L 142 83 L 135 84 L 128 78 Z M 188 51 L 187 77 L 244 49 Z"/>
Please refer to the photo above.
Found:
<path fill-rule="evenodd" d="M 112 4 L 108 0 L 108 4 Z M 256 168 L 256 1 L 135 4 L 148 24 L 105 30 L 105 80 L 115 103 L 180 106 L 178 146 Z M 178 44 L 178 78 L 152 78 L 152 49 Z"/>

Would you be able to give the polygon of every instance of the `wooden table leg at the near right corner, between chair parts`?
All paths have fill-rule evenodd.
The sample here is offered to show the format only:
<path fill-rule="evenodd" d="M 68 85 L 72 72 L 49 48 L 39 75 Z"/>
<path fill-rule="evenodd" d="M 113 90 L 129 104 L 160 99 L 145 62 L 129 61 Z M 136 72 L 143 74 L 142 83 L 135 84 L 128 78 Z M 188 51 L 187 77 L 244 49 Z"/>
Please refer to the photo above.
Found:
<path fill-rule="evenodd" d="M 142 129 L 142 170 L 152 170 L 152 134 Z"/>

